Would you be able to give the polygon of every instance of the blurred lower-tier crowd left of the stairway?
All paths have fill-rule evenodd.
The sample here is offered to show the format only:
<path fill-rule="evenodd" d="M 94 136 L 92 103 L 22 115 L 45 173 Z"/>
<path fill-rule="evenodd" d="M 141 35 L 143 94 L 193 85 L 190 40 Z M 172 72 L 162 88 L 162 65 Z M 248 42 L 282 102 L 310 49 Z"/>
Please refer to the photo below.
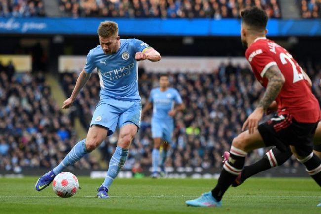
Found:
<path fill-rule="evenodd" d="M 2 66 L 0 103 L 0 170 L 52 168 L 75 145 L 74 127 L 55 104 L 42 73 L 12 75 Z M 99 165 L 86 156 L 74 167 Z"/>

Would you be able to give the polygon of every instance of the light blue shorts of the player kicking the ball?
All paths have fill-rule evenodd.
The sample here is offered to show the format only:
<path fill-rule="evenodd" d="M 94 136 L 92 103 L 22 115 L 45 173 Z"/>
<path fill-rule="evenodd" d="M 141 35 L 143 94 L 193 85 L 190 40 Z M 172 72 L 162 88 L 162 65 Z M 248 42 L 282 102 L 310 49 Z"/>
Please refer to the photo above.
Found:
<path fill-rule="evenodd" d="M 100 97 L 90 127 L 100 125 L 108 128 L 107 136 L 115 132 L 116 126 L 121 128 L 126 124 L 135 124 L 139 128 L 141 112 L 140 100 L 123 101 Z"/>

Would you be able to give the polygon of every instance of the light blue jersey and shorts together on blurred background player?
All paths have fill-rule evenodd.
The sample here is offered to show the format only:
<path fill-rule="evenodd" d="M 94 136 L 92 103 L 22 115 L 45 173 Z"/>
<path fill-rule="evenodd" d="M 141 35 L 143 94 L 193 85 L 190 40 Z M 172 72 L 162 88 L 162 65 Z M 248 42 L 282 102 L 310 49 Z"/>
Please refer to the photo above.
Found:
<path fill-rule="evenodd" d="M 166 91 L 161 91 L 158 87 L 151 91 L 149 102 L 153 103 L 152 137 L 171 142 L 174 119 L 168 112 L 174 108 L 175 103 L 182 103 L 181 96 L 174 88 L 169 87 Z"/>

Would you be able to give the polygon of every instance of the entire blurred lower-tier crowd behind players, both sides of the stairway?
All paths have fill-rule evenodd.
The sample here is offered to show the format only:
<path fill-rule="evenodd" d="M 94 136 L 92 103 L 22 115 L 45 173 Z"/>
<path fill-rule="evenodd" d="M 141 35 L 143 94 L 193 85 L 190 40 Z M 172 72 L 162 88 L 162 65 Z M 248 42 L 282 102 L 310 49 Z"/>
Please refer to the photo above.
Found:
<path fill-rule="evenodd" d="M 321 66 L 305 63 L 312 77 L 313 92 L 321 102 L 319 78 Z M 94 73 L 80 92 L 69 115 L 60 111 L 42 73 L 14 74 L 14 67 L 0 63 L 0 170 L 52 168 L 77 142 L 74 119 L 78 117 L 87 130 L 99 101 L 99 77 Z M 158 86 L 159 75 L 139 71 L 140 95 L 144 105 L 152 88 Z M 78 74 L 62 74 L 66 96 L 72 92 Z M 169 74 L 187 106 L 175 116 L 175 129 L 166 161 L 167 167 L 221 167 L 222 154 L 232 139 L 241 133 L 242 123 L 254 110 L 262 96 L 262 86 L 247 67 L 221 64 L 211 74 Z M 124 169 L 151 166 L 151 114 L 147 112 L 133 140 Z M 265 120 L 268 117 L 265 118 Z M 99 147 L 102 160 L 85 156 L 75 168 L 98 169 L 108 163 L 114 153 L 119 132 L 107 137 Z M 246 164 L 258 160 L 266 149 L 252 152 Z M 286 166 L 297 166 L 292 158 Z"/>

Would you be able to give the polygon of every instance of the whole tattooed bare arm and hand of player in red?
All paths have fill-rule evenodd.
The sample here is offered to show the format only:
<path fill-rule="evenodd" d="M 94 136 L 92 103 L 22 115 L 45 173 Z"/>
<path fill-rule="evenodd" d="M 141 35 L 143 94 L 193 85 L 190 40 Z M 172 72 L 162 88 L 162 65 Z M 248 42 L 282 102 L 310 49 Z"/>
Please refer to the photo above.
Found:
<path fill-rule="evenodd" d="M 285 78 L 278 66 L 271 66 L 264 76 L 269 80 L 266 87 L 266 91 L 260 100 L 258 106 L 252 114 L 250 114 L 247 120 L 244 122 L 242 130 L 244 131 L 248 127 L 250 134 L 254 133 L 259 125 L 259 121 L 263 117 L 263 113 L 269 108 L 270 104 L 277 98 L 282 86 L 285 83 Z"/>

